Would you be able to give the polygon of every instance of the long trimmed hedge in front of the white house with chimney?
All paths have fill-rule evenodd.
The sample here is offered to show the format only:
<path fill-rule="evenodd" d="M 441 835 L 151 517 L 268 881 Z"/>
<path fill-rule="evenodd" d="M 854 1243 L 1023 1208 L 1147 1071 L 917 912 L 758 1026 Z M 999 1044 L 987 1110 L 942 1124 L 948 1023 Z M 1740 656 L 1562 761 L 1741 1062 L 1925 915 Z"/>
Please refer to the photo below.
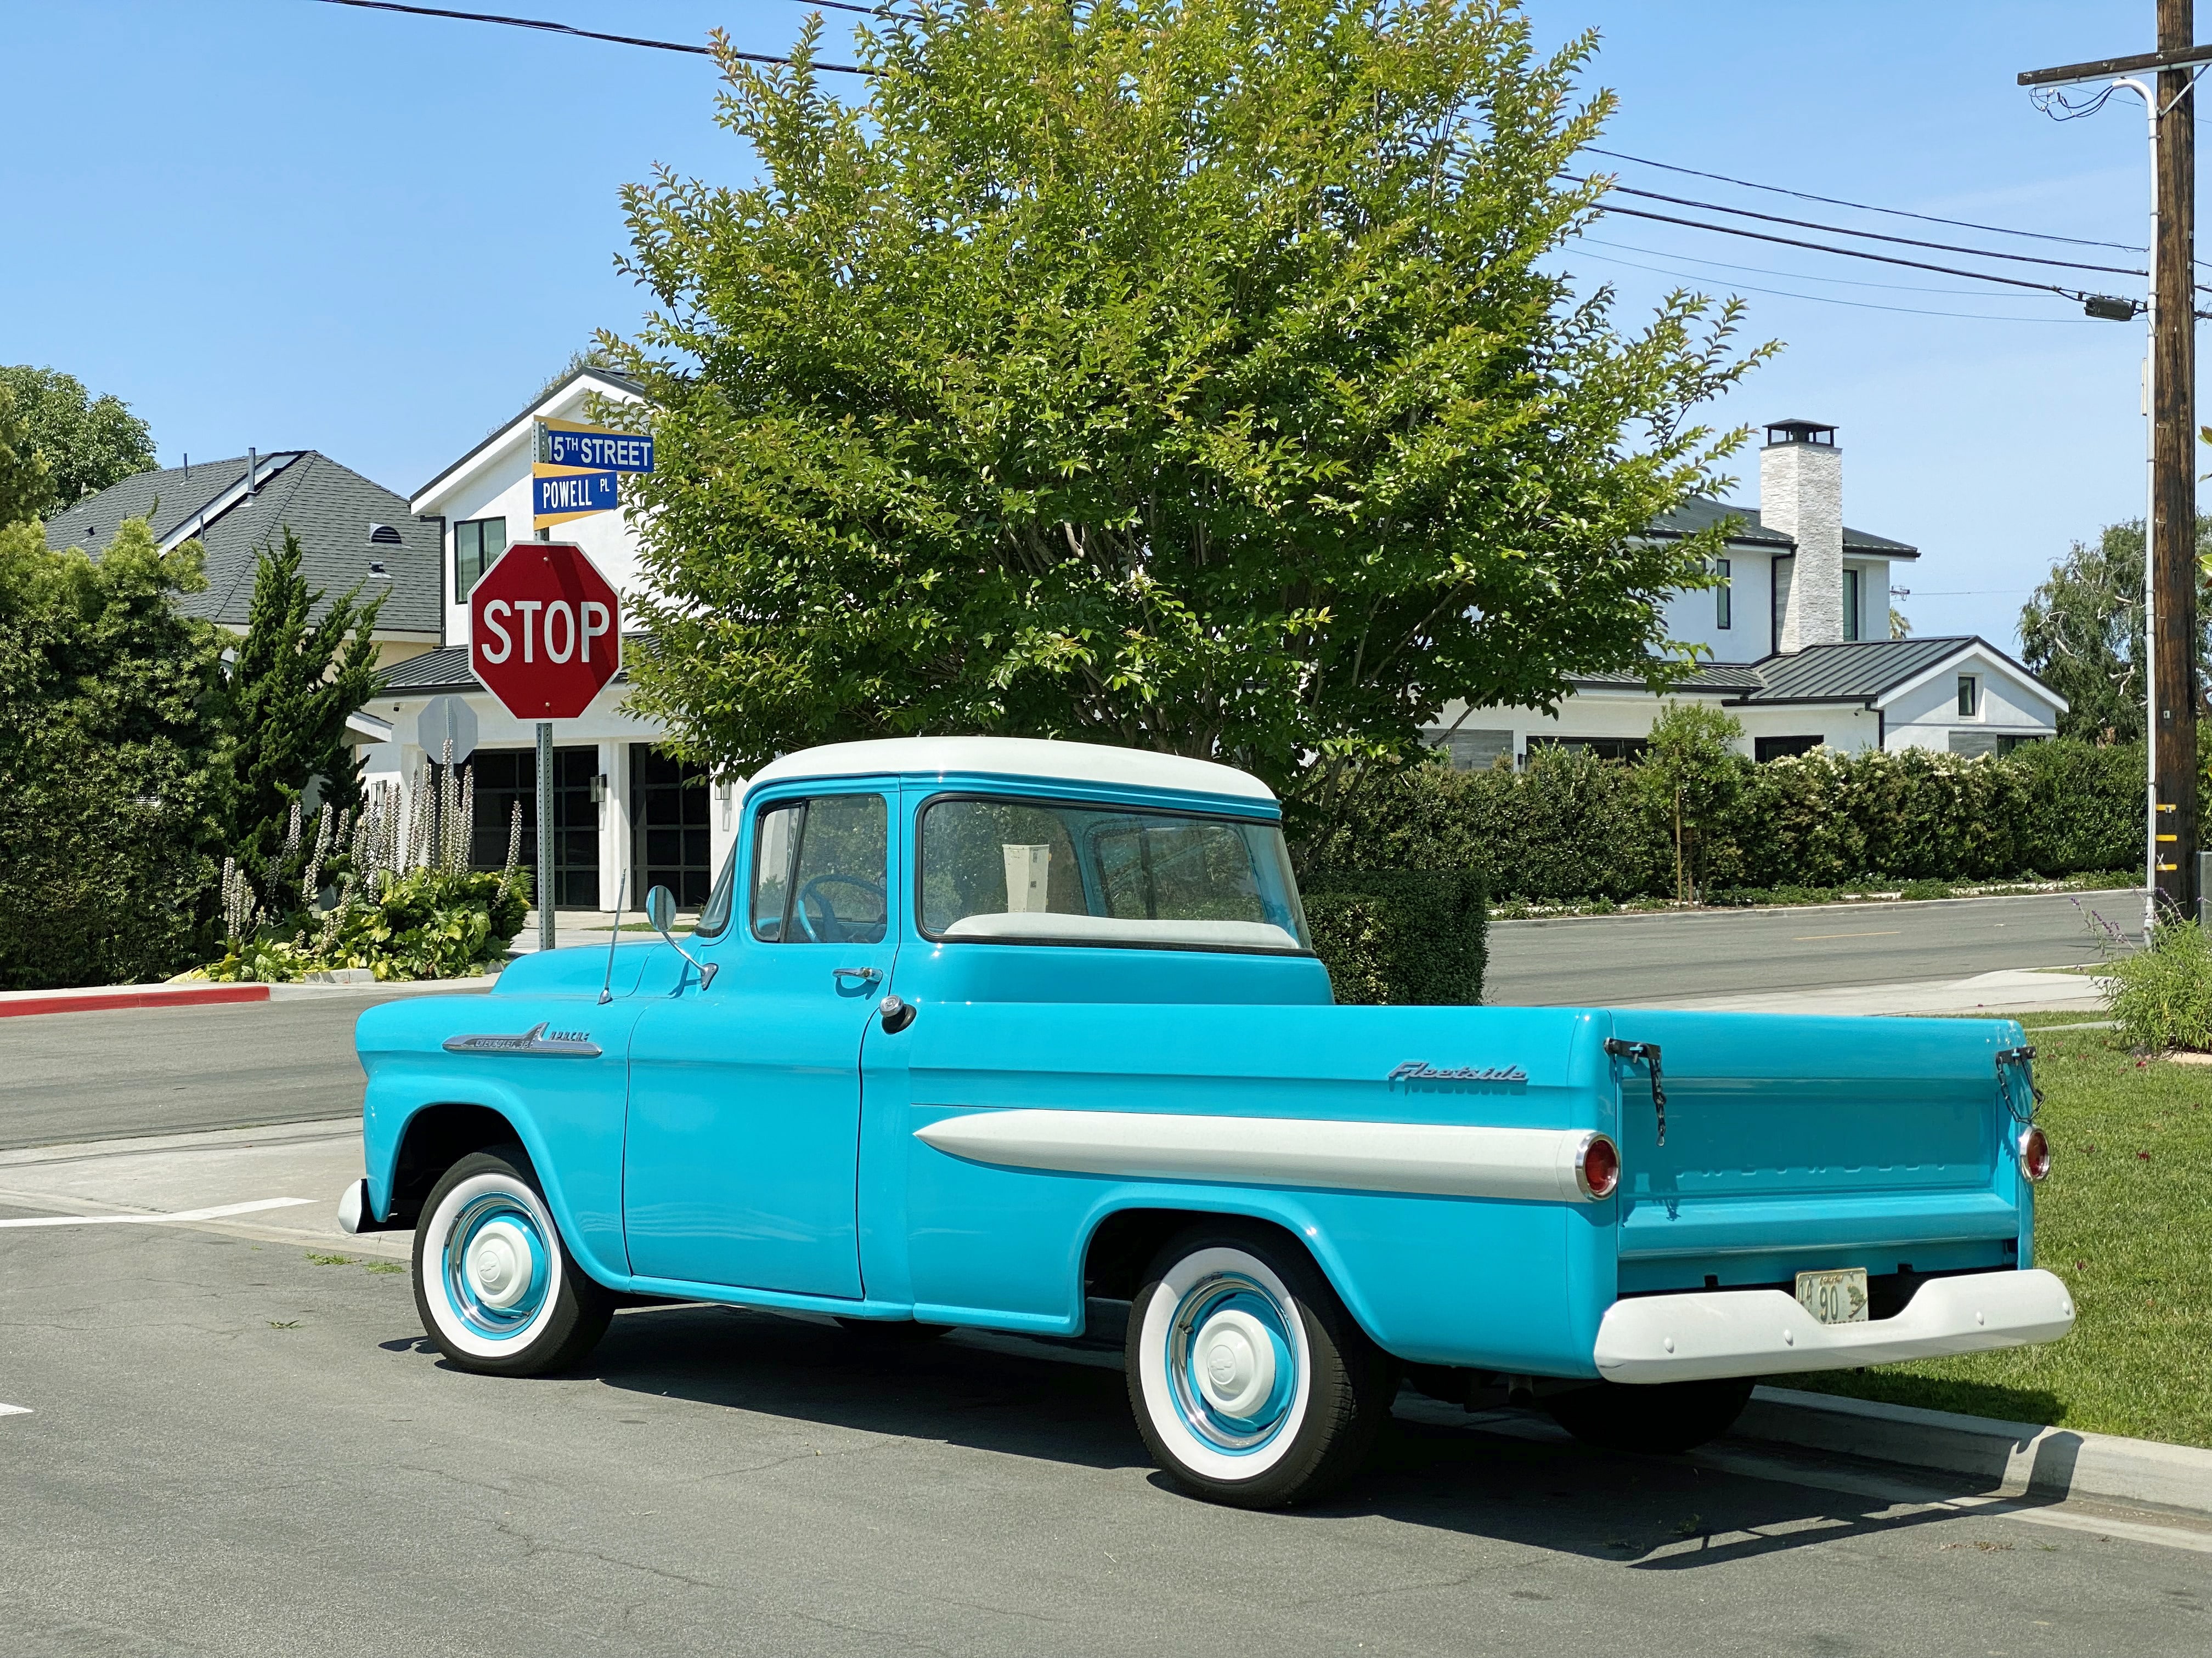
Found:
<path fill-rule="evenodd" d="M 2141 745 L 2057 738 L 2006 758 L 1816 749 L 1741 760 L 1734 800 L 1694 836 L 1701 891 L 1865 878 L 1986 880 L 2130 869 Z M 1674 838 L 1635 763 L 1540 749 L 1524 772 L 1380 774 L 1307 849 L 1314 869 L 1460 869 L 1495 898 L 1670 898 Z"/>

